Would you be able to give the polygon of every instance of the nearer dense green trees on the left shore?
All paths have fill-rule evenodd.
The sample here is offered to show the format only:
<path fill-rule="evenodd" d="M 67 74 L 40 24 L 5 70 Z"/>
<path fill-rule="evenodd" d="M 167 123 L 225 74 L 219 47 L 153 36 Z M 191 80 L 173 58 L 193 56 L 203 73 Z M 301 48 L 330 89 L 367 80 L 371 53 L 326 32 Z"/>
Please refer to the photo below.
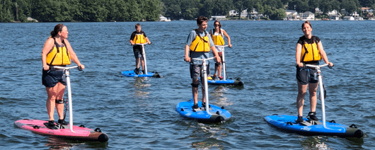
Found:
<path fill-rule="evenodd" d="M 160 0 L 0 0 L 0 22 L 158 21 Z"/>

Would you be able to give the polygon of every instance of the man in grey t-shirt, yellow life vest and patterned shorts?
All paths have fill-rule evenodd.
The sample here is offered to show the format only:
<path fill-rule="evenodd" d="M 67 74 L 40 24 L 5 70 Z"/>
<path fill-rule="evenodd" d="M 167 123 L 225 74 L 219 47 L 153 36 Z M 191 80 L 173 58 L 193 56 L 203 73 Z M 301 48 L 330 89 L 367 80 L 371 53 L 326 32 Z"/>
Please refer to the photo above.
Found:
<path fill-rule="evenodd" d="M 194 98 L 194 105 L 192 106 L 193 109 L 199 108 L 197 99 L 200 76 L 202 79 L 202 83 L 204 83 L 204 80 L 206 80 L 202 76 L 202 61 L 193 60 L 193 58 L 207 59 L 209 58 L 209 51 L 210 49 L 212 49 L 217 62 L 221 62 L 219 54 L 217 54 L 214 42 L 212 41 L 211 36 L 209 36 L 209 33 L 207 33 L 206 31 L 207 22 L 208 19 L 206 17 L 200 16 L 199 18 L 197 18 L 198 28 L 190 32 L 185 45 L 185 62 L 190 62 L 192 96 Z M 209 74 L 209 69 L 207 69 L 207 74 Z M 204 97 L 204 85 L 202 85 L 202 107 L 205 107 L 206 100 Z"/>

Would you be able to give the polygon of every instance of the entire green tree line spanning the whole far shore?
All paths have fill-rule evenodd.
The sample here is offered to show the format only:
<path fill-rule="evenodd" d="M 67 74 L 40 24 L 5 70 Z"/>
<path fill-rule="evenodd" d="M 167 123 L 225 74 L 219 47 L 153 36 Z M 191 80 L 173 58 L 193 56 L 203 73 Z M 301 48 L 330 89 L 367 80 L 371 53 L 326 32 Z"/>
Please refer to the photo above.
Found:
<path fill-rule="evenodd" d="M 229 11 L 258 11 L 281 20 L 285 10 L 299 13 L 320 8 L 352 13 L 360 7 L 375 8 L 375 0 L 0 0 L 0 22 L 158 21 L 162 14 L 173 20 L 198 16 L 228 16 Z M 239 16 L 238 16 L 239 17 Z"/>

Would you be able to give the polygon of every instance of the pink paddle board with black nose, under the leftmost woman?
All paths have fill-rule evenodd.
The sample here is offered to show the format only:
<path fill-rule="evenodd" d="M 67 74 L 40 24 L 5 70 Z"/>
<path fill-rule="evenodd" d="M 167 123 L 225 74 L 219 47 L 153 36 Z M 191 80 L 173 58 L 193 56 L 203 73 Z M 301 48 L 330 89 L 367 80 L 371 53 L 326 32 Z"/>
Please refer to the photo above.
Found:
<path fill-rule="evenodd" d="M 69 129 L 67 125 L 66 129 L 49 129 L 43 123 L 45 120 L 18 120 L 14 122 L 14 125 L 20 127 L 21 129 L 27 129 L 36 134 L 49 135 L 64 139 L 72 139 L 79 141 L 88 141 L 88 142 L 107 142 L 108 135 L 102 133 L 100 129 L 93 130 L 86 127 L 73 126 L 73 131 Z"/>

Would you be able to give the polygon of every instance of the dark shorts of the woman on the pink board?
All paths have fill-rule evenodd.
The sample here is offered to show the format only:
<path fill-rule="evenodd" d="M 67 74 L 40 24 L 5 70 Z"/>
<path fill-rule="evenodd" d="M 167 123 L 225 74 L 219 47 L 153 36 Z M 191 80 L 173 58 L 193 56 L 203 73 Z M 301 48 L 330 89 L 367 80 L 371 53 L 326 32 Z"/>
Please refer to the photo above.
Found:
<path fill-rule="evenodd" d="M 42 70 L 42 84 L 45 85 L 45 87 L 52 88 L 56 86 L 57 82 L 61 82 L 64 86 L 67 86 L 67 79 L 64 76 L 64 70 Z"/>

